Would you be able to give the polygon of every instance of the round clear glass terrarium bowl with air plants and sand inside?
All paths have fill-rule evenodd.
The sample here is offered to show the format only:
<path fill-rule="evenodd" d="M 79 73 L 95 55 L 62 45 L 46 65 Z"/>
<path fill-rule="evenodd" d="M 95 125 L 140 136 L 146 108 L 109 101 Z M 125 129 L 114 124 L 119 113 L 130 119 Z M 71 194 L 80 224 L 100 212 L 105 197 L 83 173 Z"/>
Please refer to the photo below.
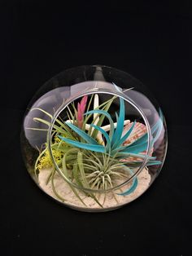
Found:
<path fill-rule="evenodd" d="M 141 196 L 167 151 L 164 115 L 137 79 L 107 66 L 70 68 L 28 105 L 21 132 L 28 173 L 76 210 L 107 211 Z"/>

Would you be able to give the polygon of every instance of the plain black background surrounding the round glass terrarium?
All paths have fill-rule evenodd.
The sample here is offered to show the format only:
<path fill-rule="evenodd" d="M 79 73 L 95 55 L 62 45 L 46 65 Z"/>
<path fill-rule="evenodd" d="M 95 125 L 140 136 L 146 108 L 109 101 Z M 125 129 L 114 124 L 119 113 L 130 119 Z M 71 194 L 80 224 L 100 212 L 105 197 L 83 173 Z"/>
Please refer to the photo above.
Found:
<path fill-rule="evenodd" d="M 1 1 L 1 246 L 6 255 L 192 255 L 189 2 Z M 24 110 L 65 68 L 105 64 L 140 79 L 168 122 L 159 178 L 120 210 L 81 213 L 37 189 L 20 153 Z"/>

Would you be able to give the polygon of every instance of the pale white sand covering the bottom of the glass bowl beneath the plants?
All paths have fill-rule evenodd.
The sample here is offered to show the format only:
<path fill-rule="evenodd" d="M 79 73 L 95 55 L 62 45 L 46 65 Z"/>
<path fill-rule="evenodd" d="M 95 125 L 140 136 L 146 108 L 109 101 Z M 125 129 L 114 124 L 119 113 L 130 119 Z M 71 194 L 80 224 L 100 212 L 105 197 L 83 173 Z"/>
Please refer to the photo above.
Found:
<path fill-rule="evenodd" d="M 51 183 L 48 183 L 46 185 L 46 179 L 48 175 L 50 174 L 49 169 L 41 170 L 39 174 L 39 186 L 41 189 L 46 192 L 48 195 L 54 197 L 57 201 L 62 202 L 57 196 L 55 196 L 55 193 L 52 190 Z M 99 206 L 93 198 L 90 196 L 85 196 L 85 193 L 79 191 L 79 195 L 81 196 L 82 200 L 85 202 L 85 205 L 82 204 L 82 202 L 76 197 L 76 195 L 72 192 L 72 189 L 68 185 L 67 182 L 65 182 L 59 174 L 55 174 L 55 189 L 59 193 L 60 196 L 64 198 L 65 201 L 63 203 L 65 205 L 68 205 L 72 208 L 77 208 L 78 210 L 84 210 L 84 211 L 98 211 L 98 210 L 111 210 L 113 208 L 120 207 L 122 205 L 125 205 L 129 203 L 130 201 L 135 200 L 138 196 L 141 196 L 143 192 L 146 191 L 146 189 L 149 187 L 149 183 L 151 181 L 151 175 L 149 174 L 148 170 L 144 168 L 140 174 L 137 175 L 137 188 L 129 194 L 128 196 L 120 196 L 116 195 L 116 201 L 112 192 L 107 192 L 106 200 L 103 204 L 104 200 L 104 193 L 100 193 L 99 202 L 103 205 L 103 208 Z M 130 184 L 125 185 L 122 190 L 129 188 Z M 116 191 L 120 192 L 119 191 Z M 98 196 L 97 196 L 98 197 Z"/>

